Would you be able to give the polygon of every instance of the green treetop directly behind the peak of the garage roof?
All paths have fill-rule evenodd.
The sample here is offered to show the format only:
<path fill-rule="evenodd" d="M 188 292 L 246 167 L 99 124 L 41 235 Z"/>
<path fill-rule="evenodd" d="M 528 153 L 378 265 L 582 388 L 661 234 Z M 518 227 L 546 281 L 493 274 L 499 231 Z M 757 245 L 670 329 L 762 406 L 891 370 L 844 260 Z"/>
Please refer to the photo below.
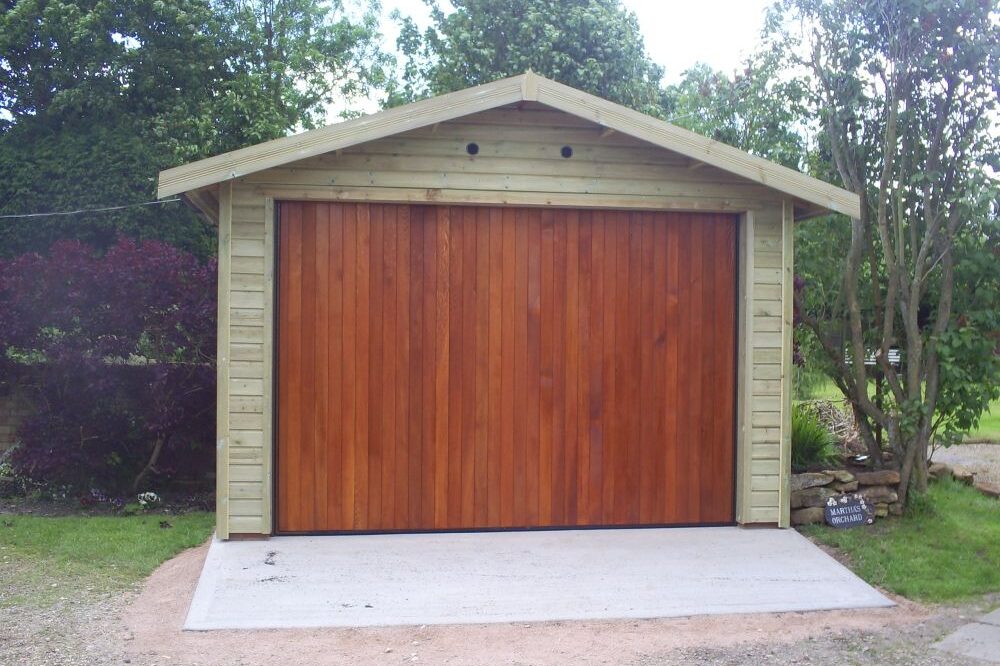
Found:
<path fill-rule="evenodd" d="M 436 0 L 425 2 L 433 25 L 422 34 L 412 19 L 400 19 L 406 61 L 390 106 L 532 70 L 661 114 L 663 70 L 649 59 L 638 20 L 620 0 L 458 0 L 450 13 Z"/>

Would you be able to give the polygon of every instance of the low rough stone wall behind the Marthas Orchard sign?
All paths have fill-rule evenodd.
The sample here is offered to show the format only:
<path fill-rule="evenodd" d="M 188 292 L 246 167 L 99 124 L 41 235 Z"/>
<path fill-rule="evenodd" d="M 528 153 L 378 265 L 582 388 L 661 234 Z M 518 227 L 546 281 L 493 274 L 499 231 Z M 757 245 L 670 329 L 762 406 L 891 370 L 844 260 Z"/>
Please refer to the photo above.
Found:
<path fill-rule="evenodd" d="M 875 507 L 876 517 L 903 513 L 896 470 L 850 471 L 831 469 L 792 474 L 790 481 L 792 525 L 823 522 L 823 507 L 831 497 L 858 494 Z"/>

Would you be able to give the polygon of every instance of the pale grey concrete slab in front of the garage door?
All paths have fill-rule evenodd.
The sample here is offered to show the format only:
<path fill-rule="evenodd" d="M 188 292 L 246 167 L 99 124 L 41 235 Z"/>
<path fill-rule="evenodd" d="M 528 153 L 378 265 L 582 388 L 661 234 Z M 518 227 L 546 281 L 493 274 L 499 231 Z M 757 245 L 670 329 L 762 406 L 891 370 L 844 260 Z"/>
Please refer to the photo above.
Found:
<path fill-rule="evenodd" d="M 892 606 L 793 530 L 215 541 L 186 629 L 678 617 Z"/>

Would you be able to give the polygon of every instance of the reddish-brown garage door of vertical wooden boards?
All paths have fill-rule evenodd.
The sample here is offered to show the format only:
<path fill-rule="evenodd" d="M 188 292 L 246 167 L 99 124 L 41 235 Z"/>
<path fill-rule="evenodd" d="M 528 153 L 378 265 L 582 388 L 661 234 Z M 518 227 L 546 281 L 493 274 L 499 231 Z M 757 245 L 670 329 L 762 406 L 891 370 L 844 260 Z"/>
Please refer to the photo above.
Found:
<path fill-rule="evenodd" d="M 281 204 L 278 531 L 731 522 L 735 233 Z"/>

